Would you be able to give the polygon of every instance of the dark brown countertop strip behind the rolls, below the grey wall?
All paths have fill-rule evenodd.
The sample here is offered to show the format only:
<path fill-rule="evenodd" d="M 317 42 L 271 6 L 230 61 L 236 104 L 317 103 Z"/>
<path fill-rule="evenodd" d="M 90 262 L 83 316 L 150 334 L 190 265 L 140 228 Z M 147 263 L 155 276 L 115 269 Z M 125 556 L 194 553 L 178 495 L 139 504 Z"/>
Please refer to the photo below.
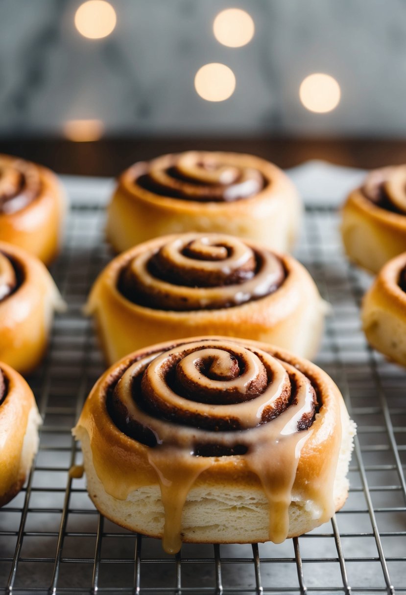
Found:
<path fill-rule="evenodd" d="M 280 167 L 308 159 L 374 168 L 406 163 L 406 140 L 277 138 L 132 138 L 71 142 L 61 139 L 3 139 L 0 152 L 18 155 L 61 174 L 115 176 L 140 159 L 188 149 L 238 151 L 260 155 Z"/>

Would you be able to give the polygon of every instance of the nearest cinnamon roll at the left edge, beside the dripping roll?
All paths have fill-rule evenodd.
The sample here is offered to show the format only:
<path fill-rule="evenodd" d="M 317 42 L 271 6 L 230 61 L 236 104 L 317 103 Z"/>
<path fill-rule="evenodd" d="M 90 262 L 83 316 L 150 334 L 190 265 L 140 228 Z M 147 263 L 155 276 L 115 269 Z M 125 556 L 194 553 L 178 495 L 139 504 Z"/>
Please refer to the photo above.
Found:
<path fill-rule="evenodd" d="M 38 449 L 41 422 L 24 378 L 0 363 L 0 506 L 21 490 Z"/>

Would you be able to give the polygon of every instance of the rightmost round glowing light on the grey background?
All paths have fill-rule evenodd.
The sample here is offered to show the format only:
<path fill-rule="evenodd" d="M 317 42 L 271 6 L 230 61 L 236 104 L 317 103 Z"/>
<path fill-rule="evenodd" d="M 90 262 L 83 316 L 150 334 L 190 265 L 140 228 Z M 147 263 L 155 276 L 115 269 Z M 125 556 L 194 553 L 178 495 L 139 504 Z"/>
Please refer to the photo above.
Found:
<path fill-rule="evenodd" d="M 299 97 L 306 109 L 325 114 L 338 106 L 341 89 L 336 79 L 329 74 L 314 73 L 302 80 Z"/>

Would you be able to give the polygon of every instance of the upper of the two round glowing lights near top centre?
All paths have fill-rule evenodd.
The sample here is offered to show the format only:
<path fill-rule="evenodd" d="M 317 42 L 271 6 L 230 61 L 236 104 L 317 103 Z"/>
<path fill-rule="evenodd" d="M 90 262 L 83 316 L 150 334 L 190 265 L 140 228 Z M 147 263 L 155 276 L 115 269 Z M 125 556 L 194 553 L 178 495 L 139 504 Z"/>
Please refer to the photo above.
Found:
<path fill-rule="evenodd" d="M 229 48 L 241 48 L 254 37 L 255 25 L 251 16 L 241 8 L 227 8 L 218 13 L 213 23 L 217 41 Z"/>

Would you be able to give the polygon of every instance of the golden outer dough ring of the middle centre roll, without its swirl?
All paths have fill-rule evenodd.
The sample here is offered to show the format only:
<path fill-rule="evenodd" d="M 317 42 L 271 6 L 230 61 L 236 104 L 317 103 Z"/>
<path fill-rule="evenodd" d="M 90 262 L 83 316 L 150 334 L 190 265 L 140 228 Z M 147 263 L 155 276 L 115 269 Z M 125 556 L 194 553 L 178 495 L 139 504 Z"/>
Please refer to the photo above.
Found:
<path fill-rule="evenodd" d="M 286 278 L 273 293 L 229 308 L 168 311 L 141 306 L 124 297 L 117 289 L 123 267 L 135 256 L 158 249 L 176 237 L 157 238 L 127 250 L 111 261 L 95 281 L 86 312 L 95 317 L 110 364 L 152 343 L 194 334 L 246 337 L 307 358 L 316 354 L 327 306 L 308 271 L 292 256 L 277 255 Z M 264 250 L 254 242 L 247 245 L 258 252 Z"/>

